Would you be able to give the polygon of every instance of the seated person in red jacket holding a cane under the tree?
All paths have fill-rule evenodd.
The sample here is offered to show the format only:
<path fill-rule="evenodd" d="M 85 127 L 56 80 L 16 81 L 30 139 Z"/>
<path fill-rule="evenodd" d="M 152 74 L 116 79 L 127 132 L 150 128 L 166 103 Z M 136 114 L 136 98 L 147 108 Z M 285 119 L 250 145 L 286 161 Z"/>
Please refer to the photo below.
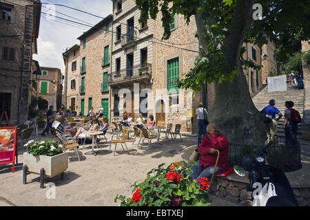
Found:
<path fill-rule="evenodd" d="M 200 177 L 211 179 L 216 164 L 216 150 L 220 151 L 220 157 L 215 174 L 225 172 L 228 167 L 229 144 L 227 137 L 216 129 L 215 124 L 209 124 L 207 126 L 207 133 L 209 133 L 209 135 L 205 135 L 203 142 L 201 142 L 198 148 L 200 153 L 198 165 L 192 166 L 191 168 L 193 170 L 192 177 L 196 179 L 197 183 Z"/>

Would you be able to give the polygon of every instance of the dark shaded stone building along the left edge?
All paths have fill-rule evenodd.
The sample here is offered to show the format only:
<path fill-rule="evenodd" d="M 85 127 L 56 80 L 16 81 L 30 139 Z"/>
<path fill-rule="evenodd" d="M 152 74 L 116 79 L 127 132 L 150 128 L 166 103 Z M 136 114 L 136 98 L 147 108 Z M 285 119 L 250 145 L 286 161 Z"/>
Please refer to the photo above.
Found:
<path fill-rule="evenodd" d="M 28 120 L 32 54 L 37 54 L 40 1 L 1 1 L 0 5 L 0 111 L 10 124 Z"/>

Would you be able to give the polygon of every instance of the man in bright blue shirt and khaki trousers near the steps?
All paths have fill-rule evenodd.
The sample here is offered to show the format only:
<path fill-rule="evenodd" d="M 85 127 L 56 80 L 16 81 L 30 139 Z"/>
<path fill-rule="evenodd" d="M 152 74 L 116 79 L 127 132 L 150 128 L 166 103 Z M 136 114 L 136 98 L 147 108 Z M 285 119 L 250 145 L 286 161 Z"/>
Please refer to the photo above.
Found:
<path fill-rule="evenodd" d="M 278 133 L 278 120 L 280 120 L 280 118 L 282 118 L 283 116 L 280 110 L 274 107 L 275 105 L 276 105 L 276 101 L 274 99 L 271 99 L 269 100 L 269 105 L 265 107 L 265 109 L 262 109 L 262 111 L 260 111 L 260 113 L 262 113 L 263 115 L 268 114 L 268 115 L 271 115 L 272 117 L 271 122 L 266 124 L 267 140 L 265 144 L 268 144 L 269 141 L 275 142 L 276 135 Z M 276 115 L 278 115 L 278 118 L 276 118 Z"/>

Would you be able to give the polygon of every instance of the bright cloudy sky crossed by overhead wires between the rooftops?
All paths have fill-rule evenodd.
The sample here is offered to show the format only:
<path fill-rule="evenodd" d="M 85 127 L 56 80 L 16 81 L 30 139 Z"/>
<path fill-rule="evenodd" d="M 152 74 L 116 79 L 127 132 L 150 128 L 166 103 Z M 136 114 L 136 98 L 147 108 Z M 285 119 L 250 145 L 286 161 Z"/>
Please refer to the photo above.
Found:
<path fill-rule="evenodd" d="M 96 14 L 99 17 L 107 17 L 107 15 L 112 14 L 112 1 L 111 0 L 41 0 L 42 3 L 56 3 L 70 6 L 71 8 L 76 8 L 89 12 L 91 14 Z M 94 17 L 89 14 L 84 14 L 70 8 L 64 8 L 59 5 L 46 5 L 42 4 L 42 12 L 51 12 L 49 7 L 54 7 L 56 10 L 56 17 L 63 17 L 65 19 L 74 20 L 70 17 L 80 19 L 81 21 L 76 21 L 83 23 L 91 23 L 95 25 L 99 23 L 102 19 Z M 65 17 L 63 14 L 67 14 L 70 17 Z M 53 13 L 51 13 L 53 14 Z M 61 23 L 59 23 L 61 22 Z M 85 27 L 84 29 L 76 28 L 73 25 L 63 24 L 68 23 L 66 21 L 60 21 L 59 19 L 54 19 L 46 17 L 45 14 L 41 14 L 40 29 L 39 29 L 39 39 L 37 41 L 38 54 L 33 55 L 35 61 L 39 61 L 41 67 L 56 67 L 61 69 L 61 73 L 65 74 L 65 64 L 63 63 L 62 53 L 75 44 L 79 44 L 77 38 L 86 32 L 90 28 Z"/>

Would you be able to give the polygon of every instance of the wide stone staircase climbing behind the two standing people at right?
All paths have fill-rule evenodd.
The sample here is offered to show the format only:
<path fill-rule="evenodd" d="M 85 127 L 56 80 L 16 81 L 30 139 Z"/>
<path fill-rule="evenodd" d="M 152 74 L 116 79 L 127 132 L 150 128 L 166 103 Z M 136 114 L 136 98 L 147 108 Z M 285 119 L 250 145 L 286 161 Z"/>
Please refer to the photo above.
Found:
<path fill-rule="evenodd" d="M 256 96 L 254 96 L 253 102 L 256 106 L 256 108 L 261 111 L 265 107 L 267 107 L 269 100 L 274 99 L 276 100 L 275 107 L 280 110 L 283 117 L 278 121 L 278 135 L 285 136 L 285 131 L 283 129 L 283 122 L 284 122 L 284 111 L 286 109 L 285 107 L 285 101 L 293 101 L 294 107 L 293 109 L 296 109 L 299 111 L 300 116 L 302 118 L 302 113 L 304 111 L 304 90 L 297 89 L 297 84 L 293 85 L 287 85 L 287 91 L 275 91 L 268 93 L 268 87 L 266 86 L 264 89 L 262 89 Z M 298 124 L 298 137 L 301 138 L 302 131 L 302 123 Z"/>

